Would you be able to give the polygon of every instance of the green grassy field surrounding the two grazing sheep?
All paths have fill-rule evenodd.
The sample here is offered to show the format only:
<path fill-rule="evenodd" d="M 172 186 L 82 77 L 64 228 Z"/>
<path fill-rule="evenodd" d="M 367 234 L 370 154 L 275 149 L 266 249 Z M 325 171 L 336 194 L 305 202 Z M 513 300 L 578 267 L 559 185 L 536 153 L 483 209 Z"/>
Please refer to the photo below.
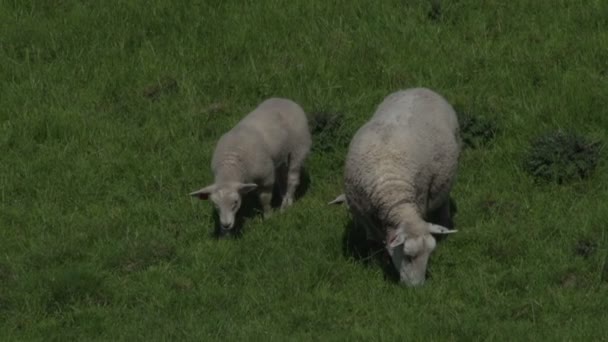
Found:
<path fill-rule="evenodd" d="M 0 1 L 0 340 L 606 340 L 605 157 L 563 185 L 521 160 L 545 132 L 608 138 L 607 27 L 600 0 Z M 459 233 L 408 289 L 326 203 L 413 86 L 498 134 L 464 150 Z M 187 194 L 270 96 L 339 120 L 290 210 L 213 239 Z"/>

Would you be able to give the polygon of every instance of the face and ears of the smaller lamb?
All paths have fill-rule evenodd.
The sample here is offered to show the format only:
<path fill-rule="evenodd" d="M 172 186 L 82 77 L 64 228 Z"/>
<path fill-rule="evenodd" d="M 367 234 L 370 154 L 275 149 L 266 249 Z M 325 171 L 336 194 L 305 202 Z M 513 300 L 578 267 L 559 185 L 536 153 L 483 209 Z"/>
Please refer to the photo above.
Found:
<path fill-rule="evenodd" d="M 190 195 L 201 200 L 210 199 L 219 214 L 222 229 L 230 230 L 234 228 L 235 216 L 241 208 L 242 196 L 256 188 L 257 185 L 254 183 L 222 183 L 209 185 Z"/>

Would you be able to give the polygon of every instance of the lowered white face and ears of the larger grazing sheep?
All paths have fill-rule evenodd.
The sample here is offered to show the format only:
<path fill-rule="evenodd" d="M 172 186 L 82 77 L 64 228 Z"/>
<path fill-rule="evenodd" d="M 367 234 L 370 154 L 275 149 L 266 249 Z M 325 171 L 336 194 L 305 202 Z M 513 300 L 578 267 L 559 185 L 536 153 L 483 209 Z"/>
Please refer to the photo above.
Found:
<path fill-rule="evenodd" d="M 399 271 L 401 283 L 407 286 L 420 286 L 426 280 L 426 269 L 429 257 L 437 245 L 434 234 L 449 234 L 449 230 L 429 224 L 428 232 L 421 235 L 408 235 L 404 226 L 389 231 L 388 252 L 393 265 Z"/>

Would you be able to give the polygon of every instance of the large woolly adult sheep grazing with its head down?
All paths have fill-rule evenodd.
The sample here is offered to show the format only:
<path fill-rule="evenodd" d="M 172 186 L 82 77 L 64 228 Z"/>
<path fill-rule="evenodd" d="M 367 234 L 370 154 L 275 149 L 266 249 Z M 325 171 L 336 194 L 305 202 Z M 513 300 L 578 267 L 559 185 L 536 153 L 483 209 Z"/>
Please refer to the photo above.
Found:
<path fill-rule="evenodd" d="M 427 88 L 388 95 L 355 133 L 345 162 L 345 203 L 368 240 L 385 246 L 400 283 L 419 286 L 436 247 L 431 234 L 448 234 L 449 194 L 461 150 L 452 106 Z M 426 220 L 439 212 L 439 223 Z"/>

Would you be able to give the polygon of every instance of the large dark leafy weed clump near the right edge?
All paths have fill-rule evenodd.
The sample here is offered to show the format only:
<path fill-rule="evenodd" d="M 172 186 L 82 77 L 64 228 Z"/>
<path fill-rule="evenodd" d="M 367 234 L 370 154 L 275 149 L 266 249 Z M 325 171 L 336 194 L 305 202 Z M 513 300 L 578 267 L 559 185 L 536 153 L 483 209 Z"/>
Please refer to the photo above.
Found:
<path fill-rule="evenodd" d="M 552 132 L 532 141 L 523 160 L 526 172 L 557 184 L 589 177 L 600 157 L 600 142 L 569 132 Z"/>

